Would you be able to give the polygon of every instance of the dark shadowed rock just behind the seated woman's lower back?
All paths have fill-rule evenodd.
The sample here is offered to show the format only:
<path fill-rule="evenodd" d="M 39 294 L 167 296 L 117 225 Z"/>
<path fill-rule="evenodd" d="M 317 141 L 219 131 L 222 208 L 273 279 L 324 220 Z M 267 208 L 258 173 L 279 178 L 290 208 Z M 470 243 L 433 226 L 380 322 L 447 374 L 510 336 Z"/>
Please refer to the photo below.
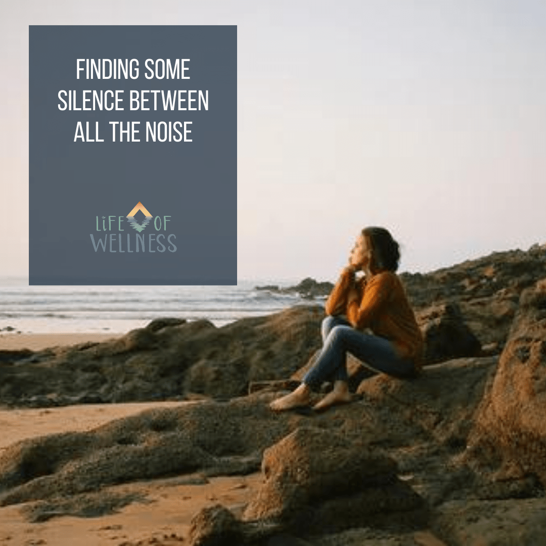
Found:
<path fill-rule="evenodd" d="M 416 318 L 425 339 L 425 364 L 480 354 L 480 342 L 465 324 L 458 305 L 435 305 L 418 312 Z"/>

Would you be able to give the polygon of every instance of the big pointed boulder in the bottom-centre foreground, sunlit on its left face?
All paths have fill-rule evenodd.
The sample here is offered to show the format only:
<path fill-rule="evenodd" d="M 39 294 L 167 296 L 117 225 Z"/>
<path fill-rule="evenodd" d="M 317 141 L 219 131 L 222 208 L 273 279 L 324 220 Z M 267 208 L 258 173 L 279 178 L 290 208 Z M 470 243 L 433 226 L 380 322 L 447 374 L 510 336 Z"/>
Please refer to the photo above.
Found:
<path fill-rule="evenodd" d="M 422 505 L 396 470 L 356 437 L 300 427 L 265 450 L 265 482 L 243 519 L 281 521 L 307 534 L 372 524 L 372 514 Z"/>

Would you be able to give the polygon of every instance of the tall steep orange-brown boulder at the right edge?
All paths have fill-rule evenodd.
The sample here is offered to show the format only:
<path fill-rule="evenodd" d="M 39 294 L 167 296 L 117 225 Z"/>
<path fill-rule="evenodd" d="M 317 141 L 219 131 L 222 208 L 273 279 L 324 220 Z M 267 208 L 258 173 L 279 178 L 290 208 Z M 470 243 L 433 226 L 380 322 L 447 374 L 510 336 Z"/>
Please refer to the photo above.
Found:
<path fill-rule="evenodd" d="M 524 290 L 491 388 L 469 437 L 468 461 L 519 468 L 546 484 L 546 279 Z"/>

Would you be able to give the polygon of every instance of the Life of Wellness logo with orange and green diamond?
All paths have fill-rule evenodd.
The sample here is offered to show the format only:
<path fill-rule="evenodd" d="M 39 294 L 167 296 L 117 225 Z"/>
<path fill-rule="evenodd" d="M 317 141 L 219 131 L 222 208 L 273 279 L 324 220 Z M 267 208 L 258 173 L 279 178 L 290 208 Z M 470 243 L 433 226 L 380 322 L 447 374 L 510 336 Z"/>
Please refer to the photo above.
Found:
<path fill-rule="evenodd" d="M 140 218 L 137 217 L 138 213 L 141 213 Z M 144 217 L 144 219 L 141 219 Z M 127 223 L 129 224 L 130 228 L 133 228 L 136 230 L 137 233 L 131 232 L 127 234 L 122 234 L 121 232 L 126 231 L 122 228 L 122 222 L 123 218 L 125 218 L 125 222 L 123 225 L 127 227 Z M 148 224 L 151 222 L 153 218 L 153 228 L 148 230 L 147 237 L 145 234 L 141 235 L 141 232 L 143 232 Z M 99 217 L 96 217 L 96 230 L 97 232 L 110 232 L 104 234 L 104 240 L 102 238 L 102 234 L 100 236 L 97 236 L 97 240 L 95 240 L 95 237 L 92 233 L 90 233 L 91 242 L 93 245 L 93 250 L 95 252 L 98 252 L 99 249 L 102 249 L 103 252 L 106 252 L 106 248 L 109 248 L 108 252 L 149 252 L 149 253 L 155 253 L 155 252 L 176 252 L 176 245 L 174 244 L 174 240 L 176 239 L 176 235 L 174 233 L 170 233 L 167 235 L 167 223 L 171 222 L 171 216 L 165 215 L 165 216 L 156 216 L 155 218 L 153 215 L 148 212 L 146 207 L 140 203 L 140 201 L 133 207 L 133 209 L 129 212 L 127 216 L 117 216 L 117 215 L 109 215 L 108 220 L 106 219 L 106 216 L 102 216 L 102 229 L 99 222 Z M 108 224 L 108 226 L 106 225 Z M 113 229 L 112 229 L 112 224 Z M 116 229 L 117 228 L 117 229 Z M 155 232 L 154 232 L 155 231 Z M 117 233 L 111 233 L 111 232 L 117 232 Z M 134 235 L 134 238 L 132 238 L 131 235 Z"/>

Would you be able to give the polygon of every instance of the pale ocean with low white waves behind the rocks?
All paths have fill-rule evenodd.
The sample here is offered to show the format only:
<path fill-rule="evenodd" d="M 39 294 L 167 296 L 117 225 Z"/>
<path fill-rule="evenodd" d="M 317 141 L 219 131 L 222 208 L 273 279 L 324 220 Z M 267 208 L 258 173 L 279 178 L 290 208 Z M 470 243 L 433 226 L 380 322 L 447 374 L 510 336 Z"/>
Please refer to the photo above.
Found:
<path fill-rule="evenodd" d="M 239 281 L 237 286 L 28 286 L 0 278 L 0 331 L 21 333 L 126 333 L 152 319 L 206 318 L 217 327 L 244 317 L 310 303 L 296 294 L 256 290 L 294 282 Z M 316 300 L 322 303 L 324 300 Z"/>

